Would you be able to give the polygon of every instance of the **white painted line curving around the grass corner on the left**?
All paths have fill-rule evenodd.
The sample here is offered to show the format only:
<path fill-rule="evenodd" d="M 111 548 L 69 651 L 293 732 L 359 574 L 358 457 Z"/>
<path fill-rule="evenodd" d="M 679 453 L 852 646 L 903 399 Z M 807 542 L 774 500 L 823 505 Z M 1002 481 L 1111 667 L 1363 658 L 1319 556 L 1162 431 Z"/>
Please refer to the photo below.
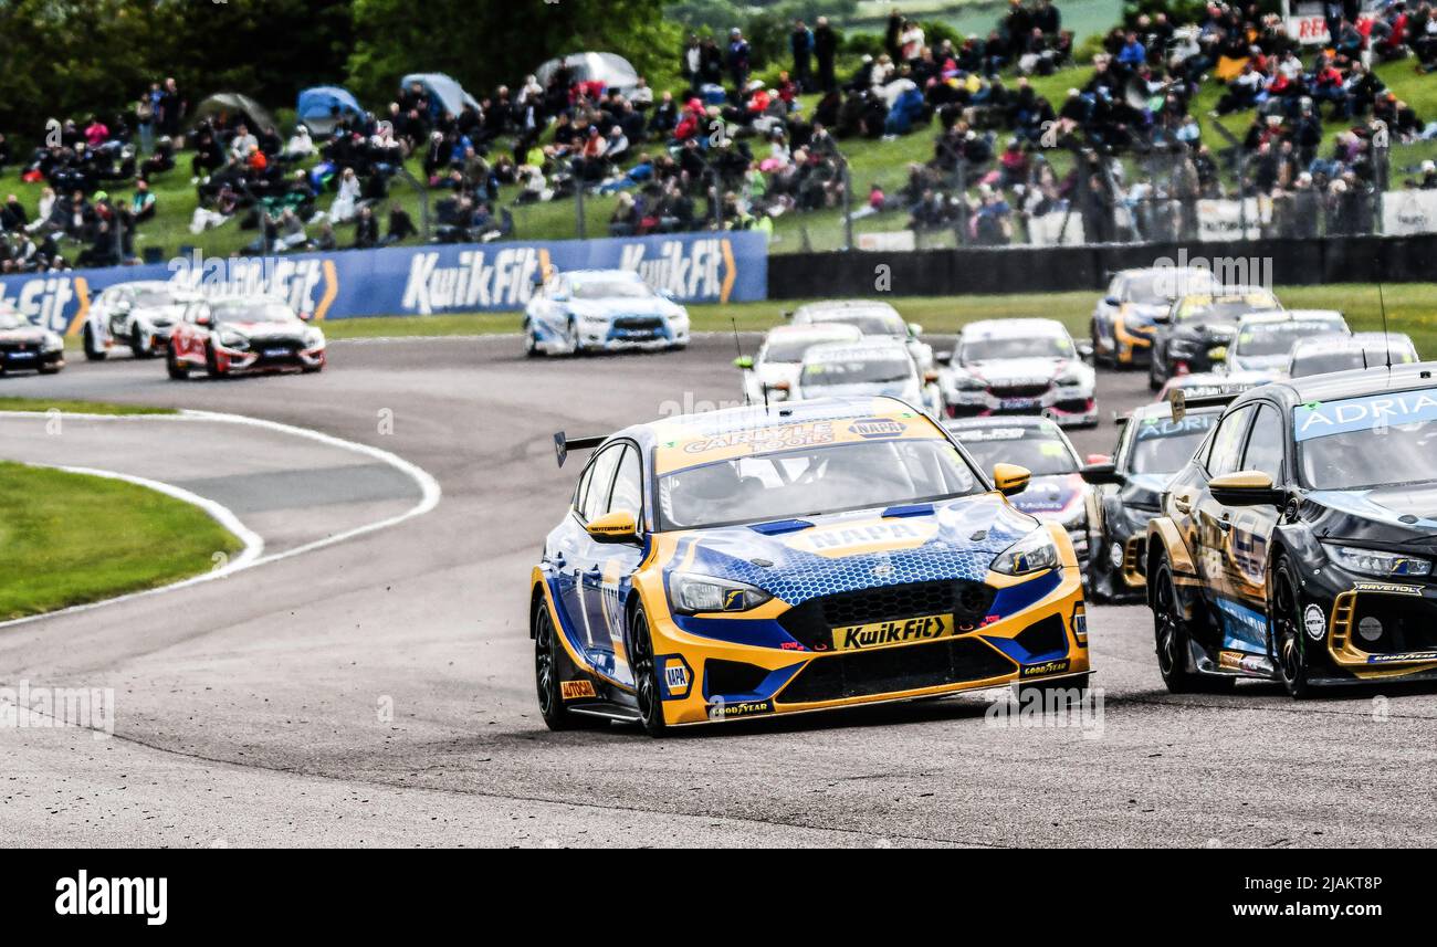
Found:
<path fill-rule="evenodd" d="M 411 520 L 411 519 L 414 519 L 417 516 L 424 516 L 425 513 L 428 513 L 430 510 L 433 510 L 435 506 L 438 506 L 440 499 L 443 497 L 443 490 L 440 489 L 438 481 L 428 471 L 425 471 L 422 467 L 418 467 L 417 464 L 412 464 L 412 463 L 404 460 L 398 454 L 391 454 L 387 450 L 381 450 L 378 447 L 371 447 L 369 444 L 361 444 L 358 441 L 346 441 L 343 438 L 333 437 L 331 434 L 323 434 L 320 431 L 312 431 L 309 428 L 296 427 L 293 424 L 282 424 L 279 421 L 266 421 L 263 418 L 250 418 L 250 417 L 246 417 L 246 415 L 241 415 L 241 414 L 221 414 L 221 412 L 217 412 L 217 411 L 188 411 L 188 410 L 180 411 L 178 414 L 83 414 L 83 412 L 66 412 L 66 411 L 62 411 L 60 414 L 63 417 L 68 417 L 68 418 L 82 418 L 82 420 L 89 420 L 89 421 L 105 421 L 105 422 L 134 422 L 134 421 L 141 421 L 141 422 L 165 422 L 165 421 L 168 421 L 171 424 L 177 424 L 177 422 L 182 424 L 182 422 L 203 422 L 203 421 L 208 421 L 208 422 L 220 422 L 220 424 L 237 424 L 237 425 L 246 425 L 246 427 L 256 427 L 256 428 L 263 428 L 263 430 L 267 430 L 267 431 L 277 431 L 280 434 L 289 434 L 292 437 L 302 437 L 302 438 L 308 438 L 308 440 L 316 441 L 319 444 L 325 444 L 325 445 L 329 445 L 329 447 L 338 447 L 341 450 L 348 450 L 348 451 L 352 451 L 355 454 L 362 454 L 365 457 L 369 457 L 372 460 L 378 460 L 381 463 L 385 463 L 385 464 L 394 467 L 395 470 L 401 471 L 402 474 L 405 474 L 407 477 L 410 477 L 411 480 L 414 480 L 414 483 L 420 487 L 420 502 L 414 507 L 411 507 L 410 510 L 405 510 L 404 513 L 399 513 L 398 516 L 391 516 L 388 519 L 378 520 L 375 523 L 368 523 L 365 526 L 358 526 L 355 529 L 345 530 L 342 533 L 335 533 L 333 536 L 326 536 L 325 539 L 318 539 L 318 540 L 315 540 L 312 543 L 306 543 L 306 545 L 297 546 L 295 549 L 286 549 L 285 552 L 274 553 L 274 555 L 270 555 L 270 556 L 262 555 L 263 548 L 264 548 L 264 542 L 263 542 L 263 539 L 259 539 L 259 536 L 256 536 L 256 539 L 259 540 L 259 552 L 256 552 L 253 556 L 243 556 L 243 562 L 240 562 L 240 560 L 231 562 L 224 569 L 216 569 L 214 572 L 208 572 L 208 573 L 201 575 L 201 576 L 194 576 L 191 579 L 184 579 L 181 582 L 175 582 L 172 585 L 165 585 L 165 586 L 161 586 L 158 589 L 147 589 L 144 592 L 132 592 L 129 595 L 122 595 L 119 598 L 105 599 L 102 602 L 91 602 L 89 605 L 76 605 L 73 608 L 68 608 L 68 609 L 62 609 L 62 611 L 56 611 L 56 612 L 46 612 L 43 615 L 30 615 L 30 616 L 26 616 L 26 618 L 17 618 L 17 619 L 13 619 L 13 621 L 0 622 L 0 629 L 11 628 L 11 627 L 20 625 L 20 624 L 29 624 L 29 622 L 40 621 L 40 619 L 45 619 L 45 618 L 55 618 L 57 615 L 73 614 L 76 611 L 89 611 L 89 609 L 101 608 L 101 606 L 105 606 L 105 605 L 115 605 L 116 602 L 125 602 L 125 601 L 141 598 L 141 596 L 145 596 L 145 595 L 158 595 L 161 592 L 171 592 L 171 591 L 181 589 L 181 588 L 185 588 L 185 586 L 198 585 L 201 582 L 213 582 L 214 579 L 228 578 L 228 576 L 236 575 L 237 572 L 243 572 L 246 569 L 253 569 L 253 568 L 257 568 L 257 566 L 269 565 L 272 562 L 282 562 L 282 560 L 290 559 L 293 556 L 299 556 L 299 555 L 309 553 L 309 552 L 316 552 L 319 549 L 325 549 L 326 546 L 333 546 L 336 543 L 342 543 L 342 542 L 346 542 L 346 540 L 351 540 L 351 539 L 355 539 L 355 537 L 359 537 L 359 536 L 365 536 L 368 533 L 374 533 L 374 532 L 378 532 L 378 530 L 382 530 L 382 529 L 389 529 L 391 526 L 398 526 L 399 523 Z M 39 411 L 0 411 L 0 418 L 17 418 L 17 417 L 19 418 L 33 418 L 33 420 L 37 420 L 37 421 L 45 421 L 47 418 L 47 414 L 46 412 L 39 412 Z M 124 479 L 119 474 L 111 474 L 111 476 L 115 476 L 118 479 Z M 154 489 L 158 489 L 161 493 L 171 491 L 170 496 L 177 496 L 177 494 L 181 494 L 181 493 L 187 493 L 184 490 L 180 490 L 178 487 L 172 487 L 170 484 L 161 484 L 158 481 L 142 481 L 142 479 L 138 479 L 138 477 L 134 479 L 134 480 L 135 480 L 135 483 L 145 483 L 145 486 L 151 486 L 152 484 Z M 194 494 L 190 494 L 190 496 L 194 496 Z M 194 497 L 194 499 L 200 500 L 201 504 L 208 503 L 208 504 L 214 506 L 217 510 L 223 510 L 224 509 L 224 507 L 220 507 L 217 503 L 213 503 L 210 500 L 204 500 L 203 497 Z M 228 510 L 226 510 L 226 513 L 228 513 Z M 233 517 L 233 513 L 230 516 L 231 516 L 231 519 L 234 519 L 236 523 L 239 523 L 239 519 Z M 244 527 L 240 526 L 240 529 L 244 529 Z M 244 539 L 244 536 L 240 532 L 237 532 L 234 529 L 231 529 L 230 532 L 233 532 L 236 536 L 240 536 L 241 539 Z M 249 532 L 249 530 L 244 530 L 244 532 Z M 246 543 L 246 550 L 249 550 L 249 543 Z"/>

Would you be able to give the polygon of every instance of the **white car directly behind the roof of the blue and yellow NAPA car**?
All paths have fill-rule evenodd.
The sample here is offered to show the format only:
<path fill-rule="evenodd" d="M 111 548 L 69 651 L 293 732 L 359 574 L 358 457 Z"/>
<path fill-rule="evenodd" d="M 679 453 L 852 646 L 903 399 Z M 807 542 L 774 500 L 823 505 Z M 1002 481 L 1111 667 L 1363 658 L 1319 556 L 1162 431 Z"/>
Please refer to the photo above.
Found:
<path fill-rule="evenodd" d="M 938 387 L 925 378 L 897 339 L 822 342 L 803 354 L 793 398 L 890 397 L 937 417 Z"/>

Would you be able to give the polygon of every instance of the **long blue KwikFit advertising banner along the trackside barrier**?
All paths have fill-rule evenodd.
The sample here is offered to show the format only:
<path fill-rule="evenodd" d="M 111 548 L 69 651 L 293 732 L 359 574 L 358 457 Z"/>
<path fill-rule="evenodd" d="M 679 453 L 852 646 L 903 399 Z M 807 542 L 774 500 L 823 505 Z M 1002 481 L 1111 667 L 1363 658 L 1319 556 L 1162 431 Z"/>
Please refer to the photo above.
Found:
<path fill-rule="evenodd" d="M 637 270 L 688 303 L 750 302 L 769 287 L 760 233 L 694 233 L 543 243 L 428 244 L 279 257 L 177 257 L 149 266 L 0 276 L 0 297 L 37 325 L 78 333 L 109 286 L 175 282 L 213 296 L 269 293 L 316 319 L 523 309 L 543 276 Z"/>

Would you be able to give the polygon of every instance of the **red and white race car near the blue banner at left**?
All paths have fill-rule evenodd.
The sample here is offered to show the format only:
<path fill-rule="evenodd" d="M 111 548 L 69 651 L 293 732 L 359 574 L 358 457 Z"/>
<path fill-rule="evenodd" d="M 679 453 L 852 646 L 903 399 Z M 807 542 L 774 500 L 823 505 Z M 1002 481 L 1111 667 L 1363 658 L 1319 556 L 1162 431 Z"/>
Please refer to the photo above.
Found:
<path fill-rule="evenodd" d="M 170 378 L 325 368 L 325 333 L 273 296 L 191 303 L 170 336 Z"/>

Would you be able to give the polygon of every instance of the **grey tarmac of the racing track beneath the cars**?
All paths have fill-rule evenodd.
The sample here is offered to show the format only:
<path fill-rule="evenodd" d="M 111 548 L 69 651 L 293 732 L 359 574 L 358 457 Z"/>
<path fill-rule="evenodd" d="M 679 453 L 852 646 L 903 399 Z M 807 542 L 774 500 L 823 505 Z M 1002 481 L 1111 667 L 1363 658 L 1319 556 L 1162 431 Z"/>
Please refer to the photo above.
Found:
<path fill-rule="evenodd" d="M 0 628 L 0 685 L 114 687 L 118 716 L 109 740 L 0 730 L 0 845 L 1437 844 L 1433 690 L 1170 697 L 1137 606 L 1089 614 L 1101 729 L 990 726 L 967 696 L 661 742 L 550 734 L 525 605 L 578 471 L 555 468 L 552 434 L 733 401 L 733 345 L 526 362 L 517 339 L 338 342 L 318 377 L 172 384 L 158 362 L 116 359 L 0 379 L 9 395 L 315 428 L 392 451 L 444 491 L 382 532 Z M 1148 392 L 1108 372 L 1099 395 L 1106 417 Z M 280 546 L 410 502 L 392 474 L 352 468 L 371 461 L 303 441 L 211 454 L 157 448 L 144 425 L 158 422 L 108 424 L 73 444 L 0 424 L 0 457 L 171 480 Z M 1115 428 L 1075 440 L 1108 450 Z"/>

